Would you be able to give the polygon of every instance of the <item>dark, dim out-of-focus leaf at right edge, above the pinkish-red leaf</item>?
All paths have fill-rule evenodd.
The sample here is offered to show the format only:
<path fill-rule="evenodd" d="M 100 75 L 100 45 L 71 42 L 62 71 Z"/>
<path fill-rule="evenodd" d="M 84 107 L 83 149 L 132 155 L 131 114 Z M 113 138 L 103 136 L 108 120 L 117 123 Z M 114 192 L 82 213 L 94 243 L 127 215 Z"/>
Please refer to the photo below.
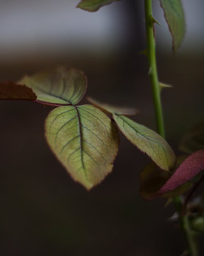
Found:
<path fill-rule="evenodd" d="M 179 149 L 188 154 L 204 149 L 204 118 L 202 122 L 184 134 Z"/>

